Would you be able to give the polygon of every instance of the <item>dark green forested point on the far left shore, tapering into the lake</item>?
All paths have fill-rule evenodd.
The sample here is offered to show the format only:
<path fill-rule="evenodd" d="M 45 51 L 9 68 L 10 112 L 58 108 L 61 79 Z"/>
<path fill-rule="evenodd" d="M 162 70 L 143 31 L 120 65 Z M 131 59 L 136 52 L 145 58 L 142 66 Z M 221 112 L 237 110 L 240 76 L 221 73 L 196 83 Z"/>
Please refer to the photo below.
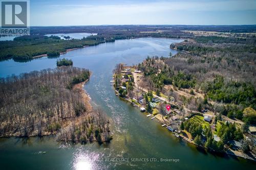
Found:
<path fill-rule="evenodd" d="M 57 36 L 31 35 L 16 37 L 13 41 L 0 41 L 0 60 L 13 58 L 31 60 L 38 55 L 47 54 L 49 57 L 59 56 L 67 49 L 97 45 L 104 41 L 89 39 L 62 40 Z"/>

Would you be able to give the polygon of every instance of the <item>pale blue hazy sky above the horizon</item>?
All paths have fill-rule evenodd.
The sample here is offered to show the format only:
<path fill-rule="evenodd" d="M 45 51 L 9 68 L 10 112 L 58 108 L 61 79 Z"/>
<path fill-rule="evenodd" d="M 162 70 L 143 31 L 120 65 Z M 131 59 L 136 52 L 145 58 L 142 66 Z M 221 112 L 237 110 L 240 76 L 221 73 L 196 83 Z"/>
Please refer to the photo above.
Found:
<path fill-rule="evenodd" d="M 30 26 L 255 24 L 255 0 L 30 0 Z"/>

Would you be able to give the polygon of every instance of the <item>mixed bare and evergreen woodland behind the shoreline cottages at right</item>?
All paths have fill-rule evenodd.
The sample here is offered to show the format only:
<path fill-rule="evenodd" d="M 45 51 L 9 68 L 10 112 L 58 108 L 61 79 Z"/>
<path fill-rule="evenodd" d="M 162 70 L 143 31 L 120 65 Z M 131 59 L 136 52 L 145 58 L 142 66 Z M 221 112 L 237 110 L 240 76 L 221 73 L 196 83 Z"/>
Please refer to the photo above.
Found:
<path fill-rule="evenodd" d="M 138 66 L 146 78 L 144 82 L 155 91 L 160 90 L 167 95 L 165 85 L 190 89 L 193 95 L 195 90 L 204 94 L 203 99 L 194 102 L 194 108 L 200 108 L 199 111 L 206 107 L 230 118 L 255 124 L 255 46 L 255 37 L 198 36 L 170 45 L 186 52 L 175 56 L 170 54 L 169 58 L 148 57 Z M 246 109 L 250 110 L 249 114 L 246 114 Z"/>

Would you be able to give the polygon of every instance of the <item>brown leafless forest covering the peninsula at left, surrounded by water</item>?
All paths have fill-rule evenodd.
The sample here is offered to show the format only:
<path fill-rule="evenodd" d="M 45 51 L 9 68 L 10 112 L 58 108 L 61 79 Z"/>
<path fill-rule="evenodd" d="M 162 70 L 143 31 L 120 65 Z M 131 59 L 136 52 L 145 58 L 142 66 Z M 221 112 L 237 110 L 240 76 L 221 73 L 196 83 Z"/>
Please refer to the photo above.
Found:
<path fill-rule="evenodd" d="M 82 99 L 87 69 L 58 67 L 0 80 L 0 136 L 58 134 L 59 140 L 106 141 L 108 120 Z"/>

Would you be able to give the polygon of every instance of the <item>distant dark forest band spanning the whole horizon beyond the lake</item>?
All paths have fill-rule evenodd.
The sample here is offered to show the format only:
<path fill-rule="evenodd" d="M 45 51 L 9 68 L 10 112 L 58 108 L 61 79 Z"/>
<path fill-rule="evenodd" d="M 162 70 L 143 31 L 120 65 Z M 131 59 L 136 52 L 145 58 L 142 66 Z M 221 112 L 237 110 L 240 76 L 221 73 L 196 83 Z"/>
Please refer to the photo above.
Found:
<path fill-rule="evenodd" d="M 240 37 L 217 37 L 205 39 L 203 37 L 195 37 L 189 30 L 193 31 L 216 31 L 225 36 Z M 70 39 L 62 40 L 58 36 L 44 36 L 45 34 L 60 33 L 97 33 L 81 40 Z M 47 54 L 49 57 L 57 57 L 60 53 L 66 52 L 67 49 L 83 47 L 85 45 L 97 45 L 103 42 L 114 42 L 118 39 L 130 39 L 140 37 L 165 37 L 165 38 L 195 38 L 197 42 L 205 43 L 246 43 L 247 37 L 255 37 L 255 26 L 76 26 L 76 27 L 31 27 L 30 36 L 16 37 L 14 41 L 0 41 L 0 60 L 13 58 L 15 61 L 31 60 L 35 56 Z M 232 35 L 231 35 L 232 33 Z M 243 33 L 243 34 L 242 34 Z M 250 33 L 250 34 L 245 34 Z M 255 42 L 253 42 L 255 43 Z M 252 44 L 253 44 L 252 43 Z M 247 44 L 249 44 L 247 42 Z M 193 48 L 191 50 L 191 48 Z M 179 45 L 178 50 L 193 51 L 194 53 L 216 52 L 216 48 L 211 46 L 192 46 Z M 228 49 L 229 48 L 229 49 Z M 244 51 L 255 52 L 255 46 L 248 45 L 229 46 L 225 51 Z"/>

